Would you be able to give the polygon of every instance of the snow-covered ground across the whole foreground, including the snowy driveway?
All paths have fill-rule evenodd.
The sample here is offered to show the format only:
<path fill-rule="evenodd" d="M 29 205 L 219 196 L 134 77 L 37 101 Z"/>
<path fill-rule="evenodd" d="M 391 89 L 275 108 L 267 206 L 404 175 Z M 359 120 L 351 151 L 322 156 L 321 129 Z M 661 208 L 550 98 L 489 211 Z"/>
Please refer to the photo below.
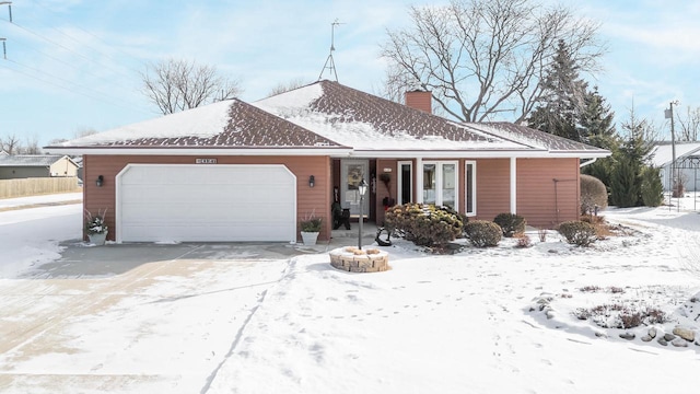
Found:
<path fill-rule="evenodd" d="M 680 202 L 692 209 L 693 198 Z M 451 256 L 397 242 L 385 248 L 393 269 L 377 274 L 338 271 L 325 253 L 230 251 L 94 281 L 32 277 L 59 256 L 58 241 L 80 236 L 80 212 L 0 212 L 0 332 L 24 314 L 68 311 L 0 354 L 3 393 L 697 391 L 700 346 L 657 341 L 676 325 L 700 335 L 700 217 L 685 208 L 609 209 L 629 234 L 588 248 L 555 232 L 529 233 L 528 248 L 504 240 Z M 576 317 L 599 305 L 657 309 L 667 322 L 645 343 L 650 326 Z"/>

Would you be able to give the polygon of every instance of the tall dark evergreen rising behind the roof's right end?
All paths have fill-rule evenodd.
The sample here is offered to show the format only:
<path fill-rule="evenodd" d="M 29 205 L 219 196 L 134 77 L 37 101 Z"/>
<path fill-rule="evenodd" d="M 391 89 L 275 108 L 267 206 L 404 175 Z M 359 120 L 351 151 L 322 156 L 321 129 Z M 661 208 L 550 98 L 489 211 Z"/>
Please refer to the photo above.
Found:
<path fill-rule="evenodd" d="M 586 106 L 587 83 L 579 77 L 579 67 L 561 39 L 541 84 L 542 96 L 528 118 L 528 126 L 583 141 L 579 124 Z"/>

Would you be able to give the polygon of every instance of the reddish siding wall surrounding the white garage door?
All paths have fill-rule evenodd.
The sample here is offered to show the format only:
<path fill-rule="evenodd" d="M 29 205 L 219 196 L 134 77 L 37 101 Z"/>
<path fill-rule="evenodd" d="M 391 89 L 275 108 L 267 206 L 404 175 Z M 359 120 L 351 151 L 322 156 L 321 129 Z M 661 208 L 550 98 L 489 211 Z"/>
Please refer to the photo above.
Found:
<path fill-rule="evenodd" d="M 319 240 L 328 240 L 330 234 L 330 204 L 332 186 L 330 184 L 331 165 L 328 157 L 198 157 L 217 159 L 218 164 L 283 164 L 296 176 L 296 217 L 299 221 L 310 215 L 320 217 L 324 228 Z M 195 164 L 194 157 L 143 157 L 143 155 L 90 155 L 83 157 L 84 163 L 84 208 L 90 212 L 108 209 L 107 225 L 109 240 L 114 240 L 115 229 L 115 176 L 129 163 L 153 164 Z M 102 187 L 95 185 L 98 175 L 104 176 Z M 314 187 L 308 186 L 308 177 L 314 175 Z M 300 234 L 298 234 L 300 236 Z M 301 237 L 299 237 L 301 240 Z"/>

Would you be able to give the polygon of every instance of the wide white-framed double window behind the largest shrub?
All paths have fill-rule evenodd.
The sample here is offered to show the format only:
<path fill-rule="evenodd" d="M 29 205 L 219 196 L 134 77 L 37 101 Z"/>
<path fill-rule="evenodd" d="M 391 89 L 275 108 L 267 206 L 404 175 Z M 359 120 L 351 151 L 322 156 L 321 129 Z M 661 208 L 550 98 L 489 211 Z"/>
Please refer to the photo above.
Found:
<path fill-rule="evenodd" d="M 423 202 L 457 210 L 457 162 L 423 162 Z"/>

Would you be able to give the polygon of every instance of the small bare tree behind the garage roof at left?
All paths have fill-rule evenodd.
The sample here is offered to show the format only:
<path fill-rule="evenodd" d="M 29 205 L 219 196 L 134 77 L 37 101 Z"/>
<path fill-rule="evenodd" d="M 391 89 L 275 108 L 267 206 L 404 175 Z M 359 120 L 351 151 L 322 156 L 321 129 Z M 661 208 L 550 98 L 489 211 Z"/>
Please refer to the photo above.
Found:
<path fill-rule="evenodd" d="M 164 114 L 235 97 L 242 89 L 235 80 L 219 74 L 213 66 L 167 59 L 151 65 L 141 74 L 143 93 Z"/>

